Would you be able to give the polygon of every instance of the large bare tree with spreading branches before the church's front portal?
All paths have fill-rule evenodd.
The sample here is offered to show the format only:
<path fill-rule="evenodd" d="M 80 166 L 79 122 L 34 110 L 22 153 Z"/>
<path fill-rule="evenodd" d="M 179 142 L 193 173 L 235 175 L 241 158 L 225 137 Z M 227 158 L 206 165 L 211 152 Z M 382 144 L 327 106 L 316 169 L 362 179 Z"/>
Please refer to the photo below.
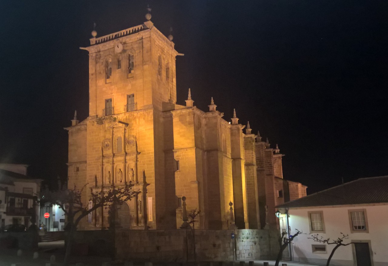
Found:
<path fill-rule="evenodd" d="M 71 245 L 73 243 L 74 232 L 77 229 L 78 224 L 80 223 L 83 217 L 88 216 L 88 214 L 94 212 L 100 207 L 115 205 L 117 203 L 126 202 L 131 200 L 138 191 L 133 191 L 132 184 L 123 186 L 123 187 L 110 187 L 105 188 L 101 191 L 94 192 L 92 188 L 90 200 L 93 201 L 92 207 L 89 209 L 88 205 L 84 205 L 82 201 L 83 190 L 87 187 L 88 184 L 85 184 L 78 190 L 74 185 L 74 189 L 60 190 L 60 191 L 44 191 L 42 193 L 43 202 L 48 202 L 52 205 L 58 205 L 65 213 L 67 217 L 66 229 L 68 230 L 67 246 L 66 253 L 64 258 L 64 265 L 68 265 L 69 257 L 71 254 Z"/>

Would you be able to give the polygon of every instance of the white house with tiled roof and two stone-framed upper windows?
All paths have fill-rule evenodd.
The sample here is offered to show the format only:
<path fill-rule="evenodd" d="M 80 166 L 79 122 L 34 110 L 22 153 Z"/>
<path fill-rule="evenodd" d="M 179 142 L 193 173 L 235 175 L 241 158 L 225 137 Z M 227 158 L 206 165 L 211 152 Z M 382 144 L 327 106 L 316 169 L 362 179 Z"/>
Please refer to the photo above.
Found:
<path fill-rule="evenodd" d="M 388 265 L 388 176 L 361 178 L 277 206 L 281 229 L 287 228 L 288 211 L 291 235 L 303 231 L 291 247 L 293 261 L 326 264 L 334 248 L 308 239 L 319 234 L 324 239 L 348 235 L 331 259 L 330 265 Z"/>

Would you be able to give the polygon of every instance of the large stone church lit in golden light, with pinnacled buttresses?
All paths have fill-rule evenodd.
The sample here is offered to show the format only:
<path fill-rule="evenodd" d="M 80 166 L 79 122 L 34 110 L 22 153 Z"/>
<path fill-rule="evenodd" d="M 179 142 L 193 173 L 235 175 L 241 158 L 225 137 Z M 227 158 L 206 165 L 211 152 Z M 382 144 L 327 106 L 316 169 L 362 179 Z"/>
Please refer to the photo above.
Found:
<path fill-rule="evenodd" d="M 200 210 L 196 228 L 230 229 L 229 203 L 237 228 L 276 228 L 275 205 L 305 196 L 306 187 L 283 179 L 277 146 L 239 124 L 236 112 L 225 121 L 213 99 L 199 110 L 190 89 L 177 104 L 175 58 L 183 54 L 146 19 L 102 37 L 93 31 L 81 48 L 89 53 L 89 116 L 74 115 L 66 128 L 69 188 L 134 184 L 141 193 L 117 211 L 124 229 L 179 228 L 184 196 L 188 211 Z M 108 211 L 80 228 L 109 227 Z"/>

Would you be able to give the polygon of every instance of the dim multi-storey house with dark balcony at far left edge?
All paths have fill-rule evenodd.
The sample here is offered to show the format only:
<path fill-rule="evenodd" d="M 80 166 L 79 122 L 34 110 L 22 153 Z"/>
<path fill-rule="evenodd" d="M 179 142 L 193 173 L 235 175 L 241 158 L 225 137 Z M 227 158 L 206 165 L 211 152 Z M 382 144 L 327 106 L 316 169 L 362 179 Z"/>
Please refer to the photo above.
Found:
<path fill-rule="evenodd" d="M 31 225 L 31 217 L 39 221 L 39 204 L 33 199 L 40 193 L 42 179 L 27 176 L 28 165 L 0 164 L 0 228 L 8 224 Z"/>

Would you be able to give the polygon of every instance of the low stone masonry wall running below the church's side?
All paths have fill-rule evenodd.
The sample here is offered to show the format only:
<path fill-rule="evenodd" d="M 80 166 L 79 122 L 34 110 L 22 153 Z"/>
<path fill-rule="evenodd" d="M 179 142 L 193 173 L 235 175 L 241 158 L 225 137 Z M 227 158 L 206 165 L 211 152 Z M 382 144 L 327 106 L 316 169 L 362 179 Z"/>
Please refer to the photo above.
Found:
<path fill-rule="evenodd" d="M 116 231 L 116 257 L 148 261 L 233 261 L 273 258 L 277 231 L 270 230 Z M 232 240 L 231 234 L 235 234 Z M 236 249 L 234 247 L 236 246 Z"/>

